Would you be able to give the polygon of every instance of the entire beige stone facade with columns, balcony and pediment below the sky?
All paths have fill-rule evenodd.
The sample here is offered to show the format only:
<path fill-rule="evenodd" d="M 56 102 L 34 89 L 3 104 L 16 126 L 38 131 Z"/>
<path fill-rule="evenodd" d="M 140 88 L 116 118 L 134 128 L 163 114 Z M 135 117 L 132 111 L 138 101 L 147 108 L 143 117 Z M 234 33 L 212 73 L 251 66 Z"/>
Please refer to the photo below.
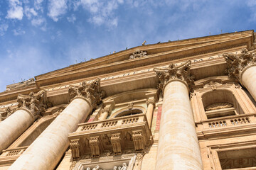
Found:
<path fill-rule="evenodd" d="M 142 45 L 0 93 L 0 170 L 256 169 L 253 30 Z"/>

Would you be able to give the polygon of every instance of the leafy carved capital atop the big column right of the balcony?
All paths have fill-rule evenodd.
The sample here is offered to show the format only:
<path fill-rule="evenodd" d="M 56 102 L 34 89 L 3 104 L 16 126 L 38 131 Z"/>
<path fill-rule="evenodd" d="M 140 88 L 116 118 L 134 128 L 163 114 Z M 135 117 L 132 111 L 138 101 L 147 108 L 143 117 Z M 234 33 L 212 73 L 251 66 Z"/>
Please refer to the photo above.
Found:
<path fill-rule="evenodd" d="M 188 88 L 191 89 L 193 86 L 193 76 L 190 74 L 191 61 L 185 62 L 184 64 L 176 66 L 175 64 L 170 64 L 168 68 L 154 68 L 156 76 L 160 80 L 159 90 L 162 91 L 165 84 L 173 79 L 179 79 L 188 84 Z"/>

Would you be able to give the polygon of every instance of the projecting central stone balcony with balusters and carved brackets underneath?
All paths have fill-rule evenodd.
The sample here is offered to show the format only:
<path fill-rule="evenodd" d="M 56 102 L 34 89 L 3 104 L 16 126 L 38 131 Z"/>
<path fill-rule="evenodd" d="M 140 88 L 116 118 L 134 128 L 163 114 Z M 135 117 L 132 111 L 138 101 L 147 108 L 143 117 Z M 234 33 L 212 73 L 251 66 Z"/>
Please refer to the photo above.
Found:
<path fill-rule="evenodd" d="M 68 138 L 74 160 L 144 152 L 153 143 L 144 114 L 82 123 Z"/>

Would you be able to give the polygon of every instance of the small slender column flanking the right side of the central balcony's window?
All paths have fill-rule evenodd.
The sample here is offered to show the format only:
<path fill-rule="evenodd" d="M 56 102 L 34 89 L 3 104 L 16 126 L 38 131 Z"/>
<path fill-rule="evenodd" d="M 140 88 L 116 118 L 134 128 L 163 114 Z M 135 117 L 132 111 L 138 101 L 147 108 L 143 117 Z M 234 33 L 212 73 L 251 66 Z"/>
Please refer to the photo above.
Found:
<path fill-rule="evenodd" d="M 151 128 L 154 106 L 156 103 L 156 94 L 146 94 L 146 120 L 149 123 L 149 128 Z"/>

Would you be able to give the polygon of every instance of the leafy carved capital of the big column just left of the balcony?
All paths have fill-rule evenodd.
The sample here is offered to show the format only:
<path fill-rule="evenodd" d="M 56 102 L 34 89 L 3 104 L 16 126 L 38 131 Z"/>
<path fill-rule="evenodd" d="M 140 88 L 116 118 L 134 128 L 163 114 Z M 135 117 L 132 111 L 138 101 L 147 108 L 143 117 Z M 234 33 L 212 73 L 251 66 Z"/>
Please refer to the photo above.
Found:
<path fill-rule="evenodd" d="M 90 83 L 82 82 L 80 86 L 70 86 L 68 89 L 70 99 L 82 97 L 89 101 L 92 108 L 95 109 L 105 97 L 105 91 L 100 90 L 100 79 L 95 79 Z"/>

